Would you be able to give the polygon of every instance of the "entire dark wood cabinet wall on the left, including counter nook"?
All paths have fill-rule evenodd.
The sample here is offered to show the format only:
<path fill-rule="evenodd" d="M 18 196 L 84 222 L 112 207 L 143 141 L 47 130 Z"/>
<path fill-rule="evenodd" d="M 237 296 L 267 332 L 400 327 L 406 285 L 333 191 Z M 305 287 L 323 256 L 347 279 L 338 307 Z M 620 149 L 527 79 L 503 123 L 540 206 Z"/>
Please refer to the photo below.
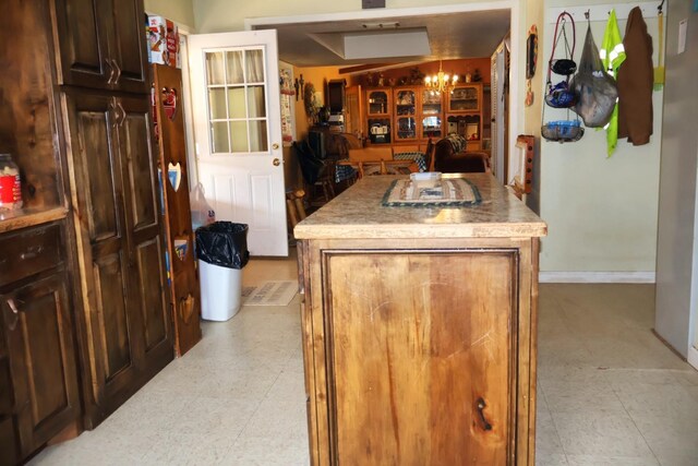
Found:
<path fill-rule="evenodd" d="M 8 0 L 0 465 L 93 428 L 173 357 L 142 0 Z"/>

